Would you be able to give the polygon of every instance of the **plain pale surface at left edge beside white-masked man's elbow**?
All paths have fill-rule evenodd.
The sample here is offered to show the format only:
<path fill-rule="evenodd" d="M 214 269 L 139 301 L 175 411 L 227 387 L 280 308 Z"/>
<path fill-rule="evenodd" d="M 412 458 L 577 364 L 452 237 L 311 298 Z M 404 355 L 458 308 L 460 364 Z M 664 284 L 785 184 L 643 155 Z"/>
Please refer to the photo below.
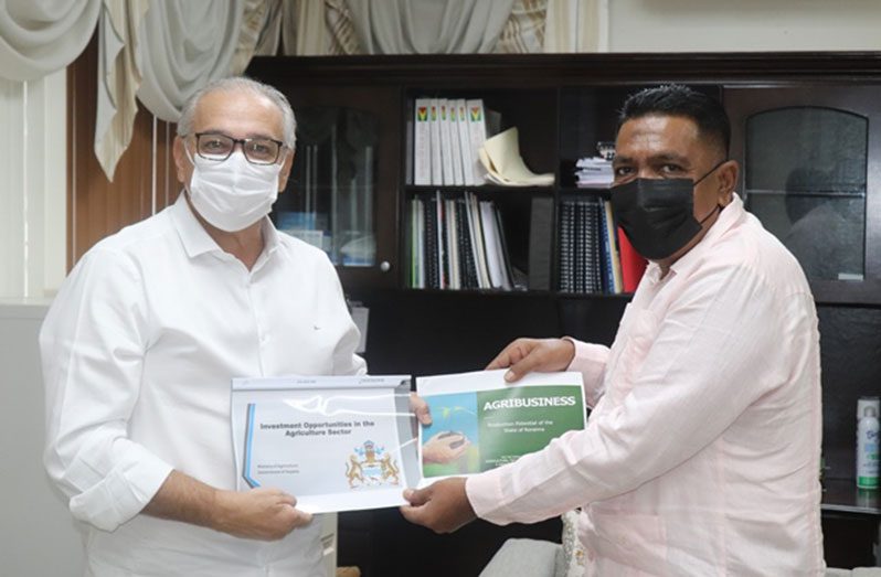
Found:
<path fill-rule="evenodd" d="M 0 302 L 0 575 L 83 575 L 83 544 L 42 462 L 36 335 L 45 304 Z"/>

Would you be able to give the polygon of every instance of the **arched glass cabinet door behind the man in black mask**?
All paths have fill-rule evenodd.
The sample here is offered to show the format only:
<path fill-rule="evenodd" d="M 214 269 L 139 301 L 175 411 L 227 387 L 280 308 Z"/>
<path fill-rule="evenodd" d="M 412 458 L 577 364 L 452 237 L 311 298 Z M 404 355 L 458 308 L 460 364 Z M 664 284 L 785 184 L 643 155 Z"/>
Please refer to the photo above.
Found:
<path fill-rule="evenodd" d="M 870 87 L 724 89 L 746 209 L 795 255 L 818 300 L 881 299 L 879 96 Z"/>

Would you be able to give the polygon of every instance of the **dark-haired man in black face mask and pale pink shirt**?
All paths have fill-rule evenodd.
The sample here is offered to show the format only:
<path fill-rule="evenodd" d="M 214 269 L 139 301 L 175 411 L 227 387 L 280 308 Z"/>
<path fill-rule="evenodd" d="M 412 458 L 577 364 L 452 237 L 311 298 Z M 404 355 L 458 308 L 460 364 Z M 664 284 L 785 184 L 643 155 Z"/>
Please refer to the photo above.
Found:
<path fill-rule="evenodd" d="M 585 574 L 821 575 L 819 335 L 800 267 L 734 194 L 722 106 L 681 86 L 622 111 L 612 202 L 650 264 L 611 349 L 520 339 L 489 368 L 570 368 L 583 431 L 408 491 L 438 532 L 581 506 Z"/>

